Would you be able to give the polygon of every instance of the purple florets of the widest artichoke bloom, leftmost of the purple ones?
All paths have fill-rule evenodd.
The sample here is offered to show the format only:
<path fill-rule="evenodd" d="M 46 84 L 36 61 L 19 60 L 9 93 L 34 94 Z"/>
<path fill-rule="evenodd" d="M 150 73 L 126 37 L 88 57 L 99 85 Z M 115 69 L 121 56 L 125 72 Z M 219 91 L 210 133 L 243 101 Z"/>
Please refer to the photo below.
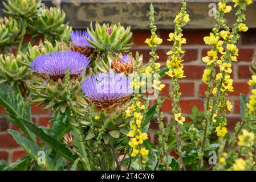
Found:
<path fill-rule="evenodd" d="M 66 75 L 67 68 L 70 75 L 79 75 L 90 64 L 87 56 L 74 51 L 45 53 L 36 57 L 30 64 L 31 70 L 49 76 Z"/>

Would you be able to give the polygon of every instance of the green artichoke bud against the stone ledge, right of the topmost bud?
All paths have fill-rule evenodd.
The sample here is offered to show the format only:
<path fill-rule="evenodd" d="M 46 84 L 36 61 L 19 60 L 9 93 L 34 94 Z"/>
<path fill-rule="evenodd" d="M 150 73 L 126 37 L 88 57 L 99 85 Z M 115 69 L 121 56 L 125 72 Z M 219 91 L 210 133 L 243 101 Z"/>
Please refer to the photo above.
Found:
<path fill-rule="evenodd" d="M 32 35 L 44 35 L 46 39 L 58 38 L 64 31 L 67 31 L 67 24 L 63 24 L 66 14 L 56 7 L 46 7 L 45 16 L 29 18 L 28 30 Z M 69 30 L 69 29 L 68 29 Z"/>

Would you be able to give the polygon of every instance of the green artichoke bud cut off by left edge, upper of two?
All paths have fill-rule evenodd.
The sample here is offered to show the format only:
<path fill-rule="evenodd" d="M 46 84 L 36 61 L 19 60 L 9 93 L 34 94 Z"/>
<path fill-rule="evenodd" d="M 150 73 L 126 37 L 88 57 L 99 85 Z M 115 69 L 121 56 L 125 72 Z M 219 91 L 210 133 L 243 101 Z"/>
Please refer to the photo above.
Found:
<path fill-rule="evenodd" d="M 0 18 L 0 47 L 17 43 L 19 23 L 13 18 Z"/>

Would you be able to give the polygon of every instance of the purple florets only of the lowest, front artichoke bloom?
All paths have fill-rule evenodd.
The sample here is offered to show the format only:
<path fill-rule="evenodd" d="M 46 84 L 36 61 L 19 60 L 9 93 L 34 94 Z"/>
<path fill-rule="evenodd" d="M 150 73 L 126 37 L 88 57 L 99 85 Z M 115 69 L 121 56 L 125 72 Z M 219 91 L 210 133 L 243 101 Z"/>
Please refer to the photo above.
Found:
<path fill-rule="evenodd" d="M 84 94 L 92 101 L 119 101 L 132 94 L 131 79 L 119 73 L 97 73 L 82 83 Z"/>

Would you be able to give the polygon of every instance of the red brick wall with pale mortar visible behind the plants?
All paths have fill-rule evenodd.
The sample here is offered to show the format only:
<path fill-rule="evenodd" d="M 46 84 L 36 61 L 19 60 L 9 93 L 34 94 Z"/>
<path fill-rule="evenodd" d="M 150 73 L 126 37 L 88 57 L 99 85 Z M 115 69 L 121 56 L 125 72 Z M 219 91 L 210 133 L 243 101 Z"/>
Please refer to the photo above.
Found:
<path fill-rule="evenodd" d="M 160 30 L 158 33 L 164 40 L 157 51 L 160 56 L 160 63 L 165 65 L 167 56 L 166 52 L 171 48 L 168 39 L 170 30 Z M 184 46 L 186 53 L 184 56 L 184 70 L 185 78 L 180 81 L 181 86 L 181 101 L 182 113 L 186 116 L 191 112 L 192 107 L 196 105 L 198 109 L 203 110 L 204 92 L 206 86 L 201 81 L 202 73 L 204 72 L 205 63 L 201 61 L 201 57 L 206 55 L 210 46 L 205 46 L 203 38 L 209 35 L 209 30 L 186 30 L 184 36 L 187 39 L 187 44 Z M 233 109 L 228 114 L 229 124 L 233 125 L 240 120 L 239 117 L 239 94 L 243 93 L 248 96 L 250 89 L 246 82 L 250 78 L 249 66 L 256 52 L 256 30 L 249 30 L 242 34 L 242 39 L 238 43 L 239 57 L 238 62 L 233 63 L 233 79 L 234 79 L 234 92 L 230 94 L 230 100 L 233 103 Z M 133 42 L 135 45 L 132 51 L 139 51 L 144 55 L 144 61 L 149 58 L 149 47 L 144 43 L 144 40 L 149 38 L 150 31 L 133 31 Z M 172 115 L 171 100 L 168 98 L 170 89 L 170 80 L 164 77 L 162 80 L 166 84 L 162 90 L 162 96 L 165 102 L 162 105 L 162 111 L 165 111 L 166 122 L 170 122 Z M 50 112 L 42 111 L 42 107 L 32 107 L 34 122 L 37 125 L 48 125 L 48 117 Z M 3 109 L 0 108 L 0 112 Z M 156 128 L 157 125 L 152 123 L 152 127 Z M 13 124 L 7 123 L 4 119 L 0 119 L 0 159 L 8 160 L 9 162 L 15 161 L 24 155 L 24 152 L 18 147 L 14 139 L 7 133 L 7 129 L 17 129 Z M 151 136 L 153 137 L 153 136 Z"/>

